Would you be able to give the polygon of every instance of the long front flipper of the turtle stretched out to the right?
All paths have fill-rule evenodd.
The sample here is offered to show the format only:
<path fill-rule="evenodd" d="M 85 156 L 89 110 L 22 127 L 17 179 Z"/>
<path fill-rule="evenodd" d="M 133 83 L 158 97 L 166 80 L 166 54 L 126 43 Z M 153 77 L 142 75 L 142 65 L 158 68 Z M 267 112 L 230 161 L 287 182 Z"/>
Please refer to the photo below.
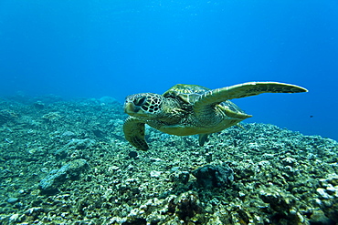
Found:
<path fill-rule="evenodd" d="M 300 93 L 307 91 L 303 87 L 279 82 L 248 82 L 206 91 L 195 101 L 194 108 L 198 112 L 210 104 L 218 104 L 233 98 L 257 96 L 262 93 Z"/>

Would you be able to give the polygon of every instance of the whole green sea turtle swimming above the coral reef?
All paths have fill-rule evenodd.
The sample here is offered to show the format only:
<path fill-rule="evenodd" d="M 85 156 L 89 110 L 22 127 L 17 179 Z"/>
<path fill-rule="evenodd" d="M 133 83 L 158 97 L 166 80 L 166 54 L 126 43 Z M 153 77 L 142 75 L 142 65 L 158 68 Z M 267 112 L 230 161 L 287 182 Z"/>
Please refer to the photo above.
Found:
<path fill-rule="evenodd" d="M 303 87 L 279 82 L 248 82 L 213 90 L 178 84 L 163 95 L 140 93 L 126 97 L 124 112 L 130 117 L 125 120 L 123 131 L 132 146 L 142 150 L 149 148 L 144 138 L 145 124 L 170 135 L 199 135 L 199 145 L 203 146 L 208 134 L 252 117 L 229 99 L 261 93 L 307 91 Z"/>

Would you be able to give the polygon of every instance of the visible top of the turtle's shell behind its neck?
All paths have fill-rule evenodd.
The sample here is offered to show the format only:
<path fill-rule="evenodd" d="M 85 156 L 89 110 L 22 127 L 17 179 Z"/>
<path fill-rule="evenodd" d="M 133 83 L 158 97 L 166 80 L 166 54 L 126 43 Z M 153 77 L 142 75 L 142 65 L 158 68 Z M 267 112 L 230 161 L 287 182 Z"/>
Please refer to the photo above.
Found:
<path fill-rule="evenodd" d="M 186 103 L 194 104 L 197 98 L 208 90 L 210 89 L 199 85 L 178 84 L 169 88 L 169 90 L 165 91 L 163 96 L 180 97 Z"/>

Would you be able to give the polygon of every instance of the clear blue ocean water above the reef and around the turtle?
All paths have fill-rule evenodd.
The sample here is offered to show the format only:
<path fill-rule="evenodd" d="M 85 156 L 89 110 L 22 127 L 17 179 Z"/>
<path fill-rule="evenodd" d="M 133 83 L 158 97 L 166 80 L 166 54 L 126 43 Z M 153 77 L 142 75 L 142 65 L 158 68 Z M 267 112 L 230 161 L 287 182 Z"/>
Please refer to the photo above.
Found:
<path fill-rule="evenodd" d="M 246 122 L 338 139 L 337 1 L 0 1 L 0 97 L 115 97 L 280 81 Z"/>

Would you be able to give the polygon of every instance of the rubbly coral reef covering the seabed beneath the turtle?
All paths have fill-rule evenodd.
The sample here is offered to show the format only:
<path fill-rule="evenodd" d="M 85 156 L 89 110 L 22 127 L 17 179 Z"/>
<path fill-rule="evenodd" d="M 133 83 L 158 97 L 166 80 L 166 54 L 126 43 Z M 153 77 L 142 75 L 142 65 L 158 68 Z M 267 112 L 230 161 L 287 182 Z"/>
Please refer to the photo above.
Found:
<path fill-rule="evenodd" d="M 0 99 L 0 224 L 337 224 L 338 143 L 266 124 L 125 141 L 111 97 Z"/>

